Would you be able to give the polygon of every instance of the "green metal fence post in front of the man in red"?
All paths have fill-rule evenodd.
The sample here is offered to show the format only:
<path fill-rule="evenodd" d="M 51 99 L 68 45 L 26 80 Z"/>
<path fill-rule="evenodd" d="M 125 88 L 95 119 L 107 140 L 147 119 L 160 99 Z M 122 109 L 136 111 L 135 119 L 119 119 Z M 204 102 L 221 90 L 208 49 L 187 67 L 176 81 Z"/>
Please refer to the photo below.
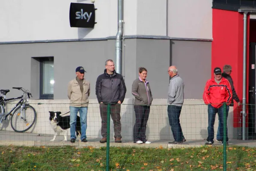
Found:
<path fill-rule="evenodd" d="M 223 104 L 223 171 L 226 171 L 226 103 Z"/>

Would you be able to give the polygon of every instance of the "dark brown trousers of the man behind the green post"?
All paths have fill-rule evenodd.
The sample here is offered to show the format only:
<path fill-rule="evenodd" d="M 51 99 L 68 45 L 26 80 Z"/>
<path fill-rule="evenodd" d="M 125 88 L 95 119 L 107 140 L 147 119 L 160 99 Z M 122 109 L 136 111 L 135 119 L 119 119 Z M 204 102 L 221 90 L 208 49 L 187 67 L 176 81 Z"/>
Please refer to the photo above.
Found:
<path fill-rule="evenodd" d="M 114 137 L 121 136 L 121 104 L 111 104 L 110 105 L 110 116 L 114 123 Z M 100 113 L 101 113 L 101 136 L 107 138 L 107 104 L 100 103 Z"/>

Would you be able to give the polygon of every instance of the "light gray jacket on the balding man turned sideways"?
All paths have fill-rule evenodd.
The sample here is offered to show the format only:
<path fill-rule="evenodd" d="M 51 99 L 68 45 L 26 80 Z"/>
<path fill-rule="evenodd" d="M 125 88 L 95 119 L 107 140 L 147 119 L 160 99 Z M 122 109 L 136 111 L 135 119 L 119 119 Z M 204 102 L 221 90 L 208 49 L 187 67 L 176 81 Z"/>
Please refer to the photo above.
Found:
<path fill-rule="evenodd" d="M 182 106 L 184 102 L 184 82 L 177 74 L 170 80 L 168 90 L 168 105 Z"/>

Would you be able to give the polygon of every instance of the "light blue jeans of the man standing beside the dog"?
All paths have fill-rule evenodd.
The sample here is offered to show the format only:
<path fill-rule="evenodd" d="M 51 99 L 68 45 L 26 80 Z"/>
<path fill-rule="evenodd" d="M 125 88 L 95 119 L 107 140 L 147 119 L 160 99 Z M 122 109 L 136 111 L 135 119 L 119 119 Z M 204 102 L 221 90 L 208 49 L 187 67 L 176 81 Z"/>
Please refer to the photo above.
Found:
<path fill-rule="evenodd" d="M 86 139 L 86 129 L 87 129 L 87 110 L 88 107 L 73 107 L 69 106 L 70 110 L 70 139 L 76 139 L 75 127 L 77 124 L 77 112 L 80 114 L 81 123 L 81 137 L 80 140 Z"/>

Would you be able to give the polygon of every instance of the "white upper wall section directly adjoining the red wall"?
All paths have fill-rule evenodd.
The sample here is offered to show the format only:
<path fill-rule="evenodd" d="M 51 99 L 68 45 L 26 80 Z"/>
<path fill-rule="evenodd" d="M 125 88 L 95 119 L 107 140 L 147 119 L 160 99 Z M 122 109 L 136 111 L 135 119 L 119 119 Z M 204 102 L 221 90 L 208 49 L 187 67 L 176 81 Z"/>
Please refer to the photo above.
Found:
<path fill-rule="evenodd" d="M 212 0 L 168 0 L 168 36 L 212 39 Z"/>

